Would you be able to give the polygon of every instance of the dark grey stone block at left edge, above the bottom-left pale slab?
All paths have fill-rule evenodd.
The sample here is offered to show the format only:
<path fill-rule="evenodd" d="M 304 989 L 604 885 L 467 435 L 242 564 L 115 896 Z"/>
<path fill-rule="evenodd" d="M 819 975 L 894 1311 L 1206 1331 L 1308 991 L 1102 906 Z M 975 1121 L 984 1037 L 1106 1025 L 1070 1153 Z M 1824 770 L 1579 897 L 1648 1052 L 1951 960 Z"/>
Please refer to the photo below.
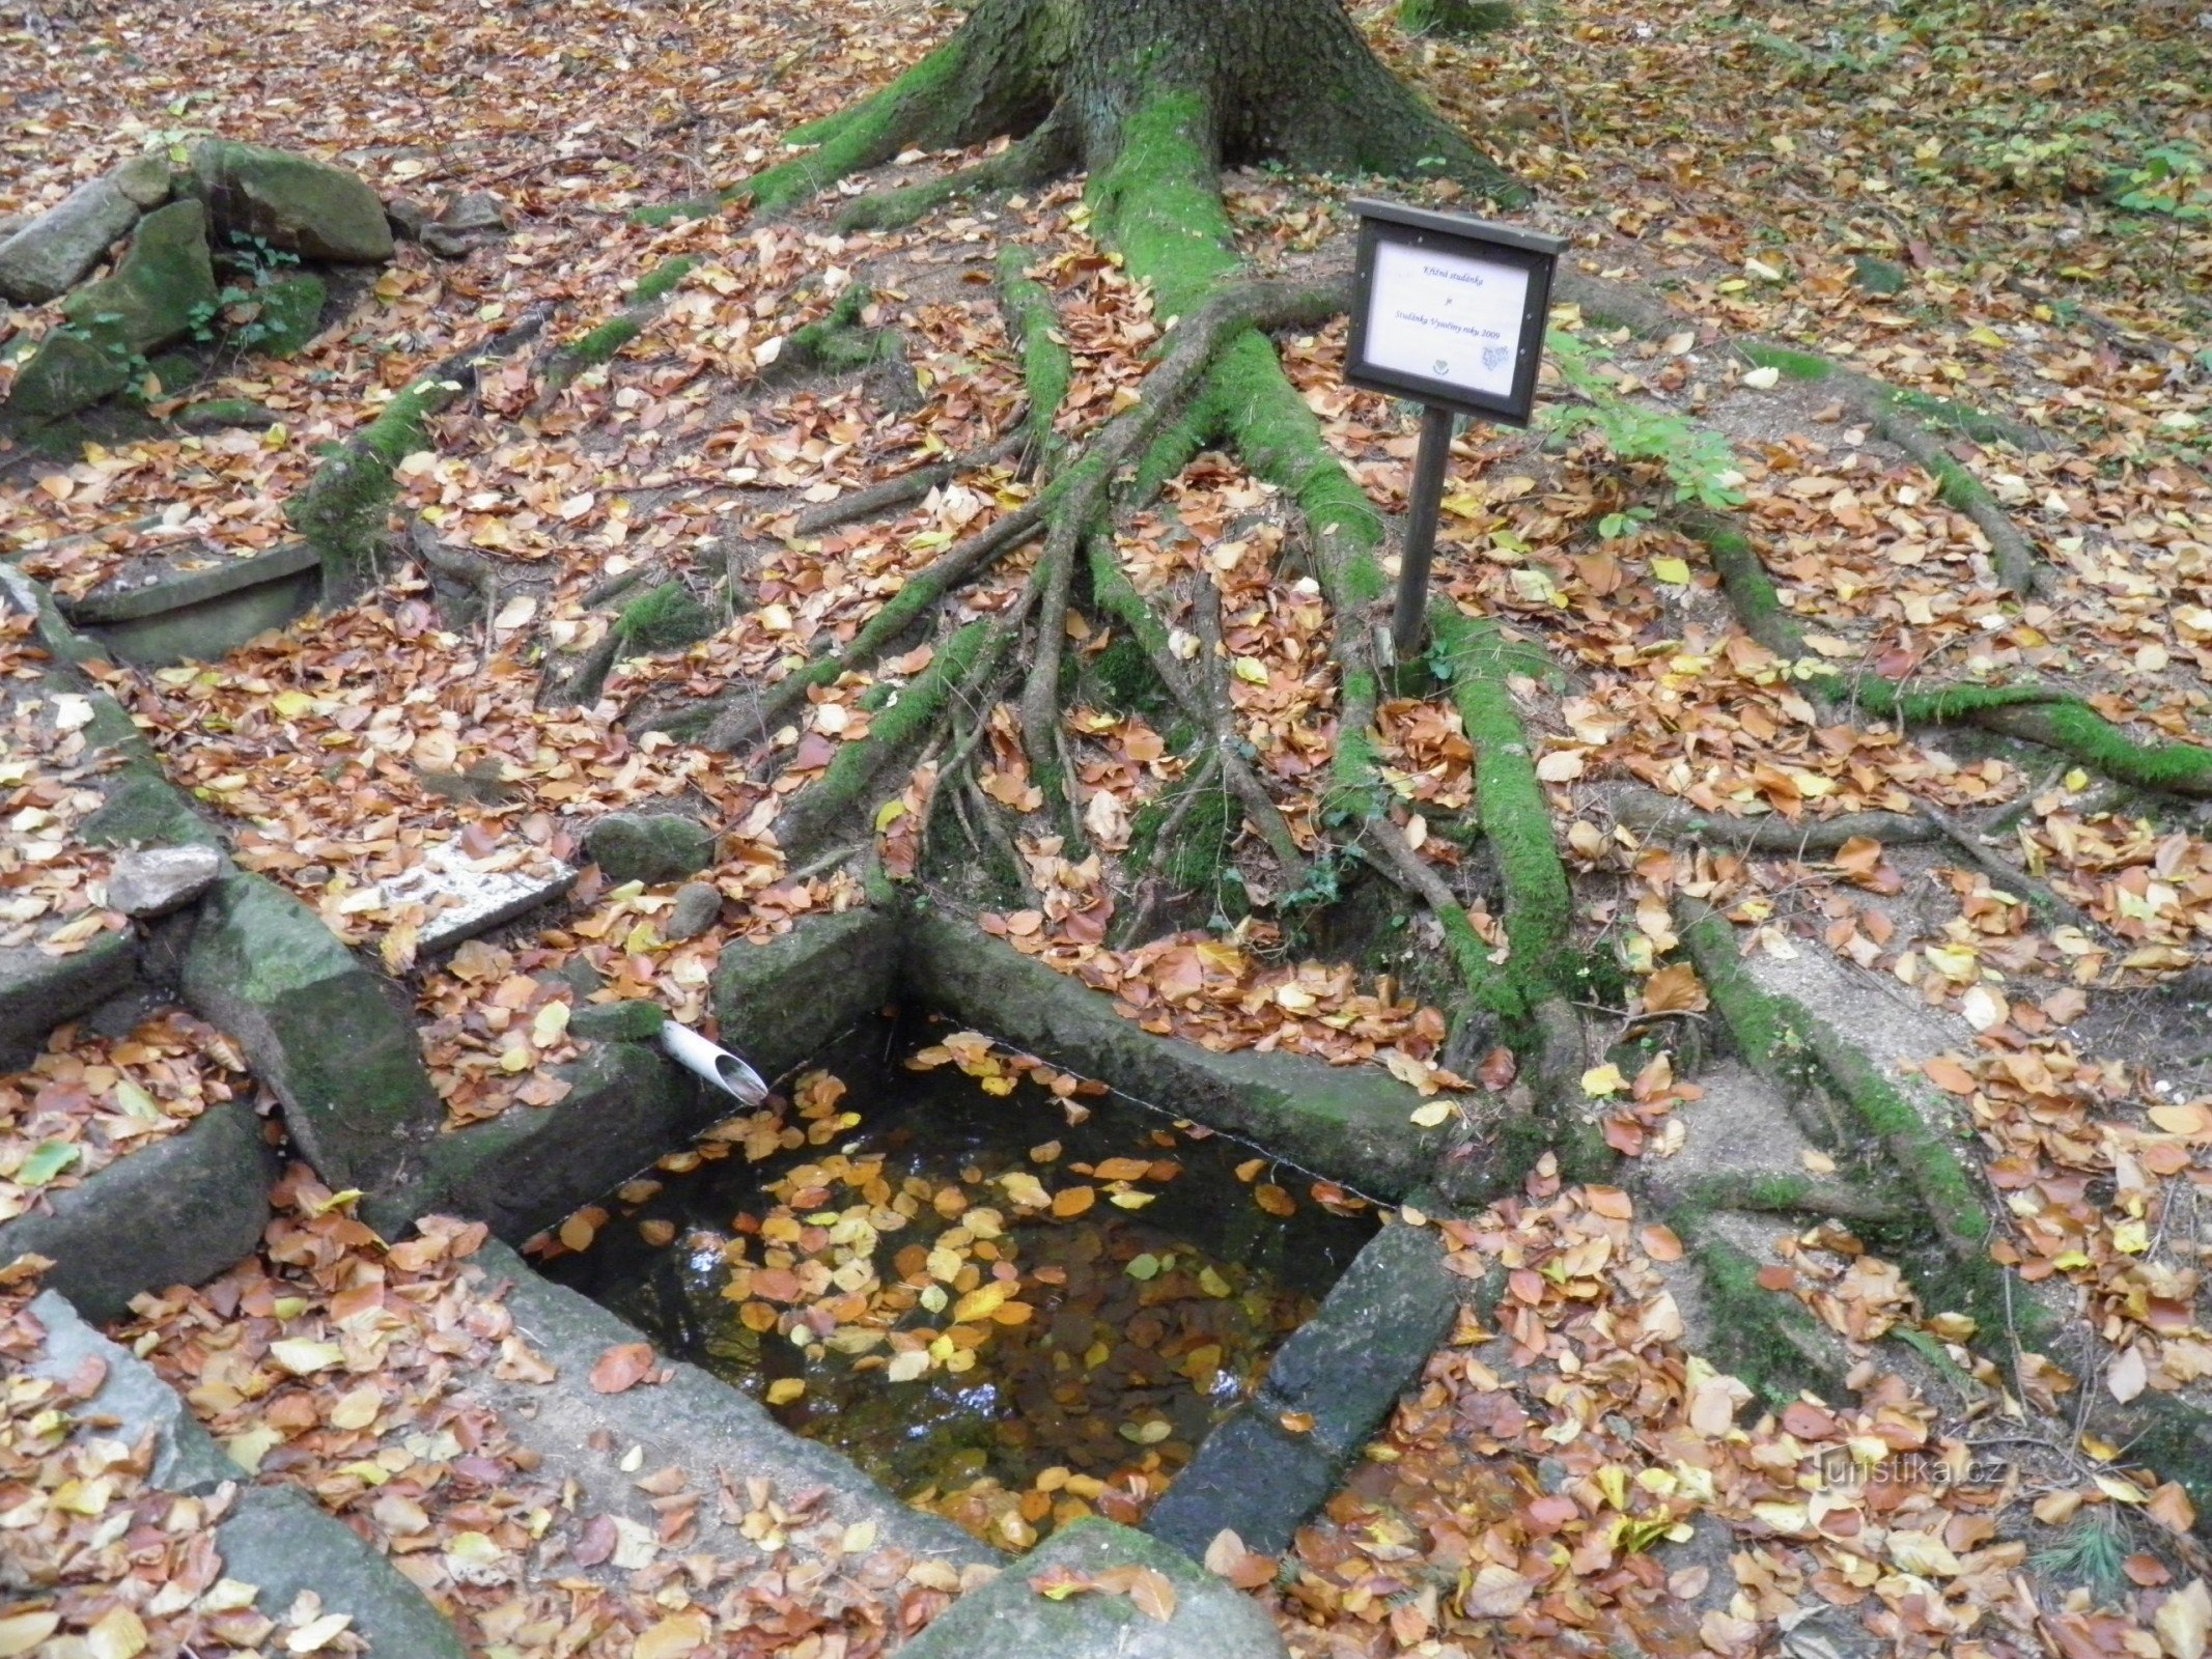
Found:
<path fill-rule="evenodd" d="M 0 1261 L 53 1259 L 46 1285 L 88 1318 L 122 1318 L 131 1298 L 197 1285 L 252 1252 L 270 1219 L 276 1155 L 243 1099 L 221 1102 L 177 1135 L 62 1188 L 49 1214 L 0 1223 Z"/>

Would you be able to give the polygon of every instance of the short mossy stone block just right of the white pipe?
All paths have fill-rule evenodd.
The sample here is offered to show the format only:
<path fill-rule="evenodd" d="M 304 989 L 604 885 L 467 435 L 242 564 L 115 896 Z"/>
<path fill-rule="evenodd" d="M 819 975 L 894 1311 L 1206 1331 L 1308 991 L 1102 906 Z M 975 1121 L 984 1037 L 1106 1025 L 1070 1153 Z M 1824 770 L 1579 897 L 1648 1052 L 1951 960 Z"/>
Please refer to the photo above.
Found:
<path fill-rule="evenodd" d="M 876 909 L 810 916 L 790 933 L 734 940 L 714 964 L 721 1046 L 774 1082 L 896 993 L 898 925 Z"/>

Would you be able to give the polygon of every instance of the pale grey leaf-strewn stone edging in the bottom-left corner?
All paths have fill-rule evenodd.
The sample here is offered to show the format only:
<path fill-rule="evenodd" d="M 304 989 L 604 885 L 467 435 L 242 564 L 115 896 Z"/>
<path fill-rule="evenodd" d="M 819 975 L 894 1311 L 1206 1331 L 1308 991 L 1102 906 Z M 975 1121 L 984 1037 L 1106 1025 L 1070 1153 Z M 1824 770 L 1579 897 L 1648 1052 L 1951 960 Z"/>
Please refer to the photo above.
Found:
<path fill-rule="evenodd" d="M 77 1416 L 115 1418 L 122 1440 L 155 1436 L 153 1480 L 164 1491 L 206 1495 L 223 1482 L 248 1480 L 208 1438 L 153 1367 L 84 1323 L 53 1290 L 31 1303 L 46 1327 L 38 1376 L 62 1378 L 86 1358 L 106 1365 L 106 1378 Z M 301 1590 L 314 1590 L 325 1613 L 352 1617 L 352 1630 L 376 1655 L 407 1659 L 462 1659 L 460 1635 L 422 1593 L 345 1522 L 325 1515 L 288 1486 L 243 1486 L 230 1515 L 215 1528 L 223 1575 L 252 1584 L 259 1608 L 283 1617 Z"/>

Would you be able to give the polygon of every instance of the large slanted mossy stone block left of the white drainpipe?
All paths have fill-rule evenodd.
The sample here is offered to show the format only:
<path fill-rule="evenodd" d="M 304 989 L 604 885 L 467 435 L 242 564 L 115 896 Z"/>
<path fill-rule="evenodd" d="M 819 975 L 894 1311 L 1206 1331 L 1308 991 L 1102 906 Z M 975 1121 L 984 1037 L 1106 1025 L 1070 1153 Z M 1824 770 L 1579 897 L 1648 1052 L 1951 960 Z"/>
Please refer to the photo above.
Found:
<path fill-rule="evenodd" d="M 405 998 L 261 876 L 232 874 L 201 902 L 181 987 L 276 1091 L 332 1186 L 389 1179 L 445 1115 Z"/>

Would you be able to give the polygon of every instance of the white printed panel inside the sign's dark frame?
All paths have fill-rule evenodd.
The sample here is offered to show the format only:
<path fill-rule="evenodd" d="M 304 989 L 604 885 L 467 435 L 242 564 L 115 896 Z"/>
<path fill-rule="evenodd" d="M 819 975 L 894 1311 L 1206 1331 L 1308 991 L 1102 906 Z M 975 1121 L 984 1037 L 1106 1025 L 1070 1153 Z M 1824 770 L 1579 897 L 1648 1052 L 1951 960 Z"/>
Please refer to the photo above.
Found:
<path fill-rule="evenodd" d="M 1526 265 L 1385 241 L 1367 296 L 1367 363 L 1511 398 L 1526 301 Z"/>

